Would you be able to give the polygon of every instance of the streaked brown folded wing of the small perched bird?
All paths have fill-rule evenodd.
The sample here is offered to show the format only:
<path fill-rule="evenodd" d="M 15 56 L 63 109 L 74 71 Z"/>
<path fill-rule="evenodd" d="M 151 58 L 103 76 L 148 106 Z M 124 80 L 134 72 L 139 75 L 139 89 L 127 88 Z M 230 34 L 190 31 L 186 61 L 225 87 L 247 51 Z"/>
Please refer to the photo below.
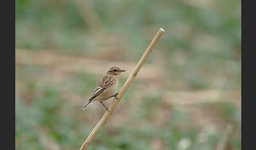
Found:
<path fill-rule="evenodd" d="M 88 101 L 93 100 L 97 97 L 97 95 L 101 94 L 106 88 L 111 87 L 114 83 L 113 76 L 105 76 L 102 80 L 97 84 L 97 87 L 93 90 L 91 98 Z"/>

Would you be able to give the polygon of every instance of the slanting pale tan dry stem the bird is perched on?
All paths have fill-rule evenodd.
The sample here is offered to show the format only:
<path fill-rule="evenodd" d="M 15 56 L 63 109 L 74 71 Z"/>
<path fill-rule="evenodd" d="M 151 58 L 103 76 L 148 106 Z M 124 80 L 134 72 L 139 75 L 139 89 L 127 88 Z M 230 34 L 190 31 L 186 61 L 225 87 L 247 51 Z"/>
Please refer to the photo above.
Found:
<path fill-rule="evenodd" d="M 97 123 L 97 125 L 93 128 L 93 131 L 90 133 L 90 135 L 86 138 L 84 144 L 81 146 L 80 150 L 84 150 L 87 149 L 88 146 L 91 144 L 91 142 L 93 141 L 93 139 L 95 138 L 95 136 L 97 135 L 97 133 L 99 133 L 99 131 L 101 130 L 101 128 L 105 125 L 105 123 L 107 122 L 107 120 L 109 119 L 111 113 L 114 111 L 116 105 L 120 102 L 120 99 L 122 99 L 124 93 L 126 92 L 126 90 L 130 87 L 132 81 L 134 80 L 134 78 L 136 77 L 137 73 L 140 71 L 143 63 L 145 62 L 146 58 L 149 57 L 151 51 L 153 50 L 153 48 L 155 47 L 156 43 L 159 41 L 159 39 L 161 38 L 161 36 L 164 34 L 164 29 L 161 28 L 159 29 L 159 31 L 156 33 L 155 37 L 153 38 L 153 40 L 151 41 L 149 47 L 147 47 L 147 49 L 145 50 L 145 52 L 143 53 L 141 59 L 139 60 L 139 62 L 137 63 L 137 65 L 135 66 L 135 68 L 133 69 L 130 77 L 126 80 L 126 82 L 124 83 L 122 89 L 119 91 L 119 94 L 117 95 L 117 98 L 119 100 L 113 100 L 110 107 L 109 107 L 109 112 L 105 112 L 105 114 L 102 116 L 101 120 Z"/>

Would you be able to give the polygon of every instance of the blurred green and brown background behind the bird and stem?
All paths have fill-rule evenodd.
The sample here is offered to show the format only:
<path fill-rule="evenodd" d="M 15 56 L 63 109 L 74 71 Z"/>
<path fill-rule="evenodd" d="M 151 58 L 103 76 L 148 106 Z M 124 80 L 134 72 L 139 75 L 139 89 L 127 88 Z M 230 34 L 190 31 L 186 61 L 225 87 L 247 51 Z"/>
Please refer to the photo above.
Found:
<path fill-rule="evenodd" d="M 161 27 L 88 149 L 241 149 L 241 1 L 16 0 L 15 23 L 16 149 L 79 149 L 97 82 L 117 66 L 121 89 Z"/>

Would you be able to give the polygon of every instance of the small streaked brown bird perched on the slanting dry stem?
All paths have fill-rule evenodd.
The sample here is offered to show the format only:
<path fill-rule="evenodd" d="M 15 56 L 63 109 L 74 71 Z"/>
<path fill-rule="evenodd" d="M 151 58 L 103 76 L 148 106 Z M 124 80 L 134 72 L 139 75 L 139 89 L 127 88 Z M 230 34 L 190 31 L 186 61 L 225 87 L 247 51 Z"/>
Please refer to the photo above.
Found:
<path fill-rule="evenodd" d="M 118 93 L 115 93 L 115 91 L 118 85 L 118 77 L 119 74 L 123 71 L 125 70 L 122 70 L 118 67 L 110 68 L 107 71 L 106 76 L 101 79 L 101 81 L 97 84 L 96 88 L 93 90 L 93 93 L 90 99 L 88 99 L 87 104 L 83 107 L 83 110 L 86 109 L 91 102 L 100 101 L 106 111 L 109 111 L 102 101 L 112 97 L 116 98 Z"/>

